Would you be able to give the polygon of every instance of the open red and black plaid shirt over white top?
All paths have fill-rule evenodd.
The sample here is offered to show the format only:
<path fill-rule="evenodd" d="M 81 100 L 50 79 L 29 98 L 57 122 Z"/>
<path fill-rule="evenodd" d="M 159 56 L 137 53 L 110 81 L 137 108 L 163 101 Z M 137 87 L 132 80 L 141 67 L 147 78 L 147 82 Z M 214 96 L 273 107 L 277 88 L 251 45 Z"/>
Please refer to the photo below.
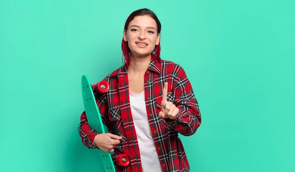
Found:
<path fill-rule="evenodd" d="M 106 94 L 96 98 L 103 123 L 112 134 L 122 137 L 121 143 L 112 154 L 125 153 L 130 165 L 120 167 L 115 164 L 116 172 L 142 172 L 137 136 L 129 103 L 128 75 L 126 65 L 121 66 L 105 79 L 110 85 Z M 148 121 L 163 172 L 189 172 L 184 148 L 178 133 L 193 135 L 201 124 L 201 114 L 192 86 L 181 66 L 166 60 L 151 60 L 144 76 L 145 100 Z M 167 101 L 173 102 L 179 109 L 175 120 L 158 116 L 161 111 L 162 90 L 168 82 Z M 95 133 L 89 126 L 85 112 L 81 115 L 79 134 L 88 148 L 94 145 Z M 131 170 L 132 169 L 132 170 Z"/>

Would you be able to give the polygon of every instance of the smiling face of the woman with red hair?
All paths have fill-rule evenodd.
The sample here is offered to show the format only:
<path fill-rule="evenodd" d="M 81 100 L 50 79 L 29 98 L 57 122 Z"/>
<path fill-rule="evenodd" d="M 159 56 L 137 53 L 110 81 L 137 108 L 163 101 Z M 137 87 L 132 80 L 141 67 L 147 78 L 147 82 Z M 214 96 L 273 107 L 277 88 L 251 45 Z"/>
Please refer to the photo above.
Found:
<path fill-rule="evenodd" d="M 124 30 L 123 39 L 128 43 L 131 56 L 146 57 L 159 44 L 160 33 L 157 33 L 157 24 L 153 18 L 136 16 L 128 29 Z"/>

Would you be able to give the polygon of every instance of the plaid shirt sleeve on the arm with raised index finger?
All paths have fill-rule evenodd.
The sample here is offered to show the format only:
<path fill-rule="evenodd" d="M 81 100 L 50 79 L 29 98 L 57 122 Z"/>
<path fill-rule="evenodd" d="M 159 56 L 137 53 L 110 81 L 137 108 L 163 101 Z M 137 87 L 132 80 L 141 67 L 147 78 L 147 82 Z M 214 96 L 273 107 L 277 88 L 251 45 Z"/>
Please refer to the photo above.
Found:
<path fill-rule="evenodd" d="M 172 92 L 175 96 L 173 103 L 179 109 L 178 118 L 174 120 L 166 118 L 165 121 L 170 128 L 180 134 L 193 135 L 201 125 L 201 113 L 191 83 L 180 66 L 173 85 Z"/>

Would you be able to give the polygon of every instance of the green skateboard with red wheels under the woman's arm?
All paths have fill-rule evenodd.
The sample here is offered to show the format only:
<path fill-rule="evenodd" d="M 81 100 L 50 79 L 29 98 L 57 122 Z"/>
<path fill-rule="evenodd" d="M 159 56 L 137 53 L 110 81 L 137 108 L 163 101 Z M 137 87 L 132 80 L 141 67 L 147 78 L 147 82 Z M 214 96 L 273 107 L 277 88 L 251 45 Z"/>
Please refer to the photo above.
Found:
<path fill-rule="evenodd" d="M 106 93 L 109 90 L 109 84 L 106 81 L 100 81 L 95 85 L 90 85 L 88 77 L 82 76 L 82 97 L 85 113 L 90 127 L 97 133 L 108 133 L 107 127 L 103 124 L 95 96 Z M 95 96 L 94 96 L 95 95 Z M 100 160 L 106 172 L 116 172 L 115 165 L 111 158 L 111 153 L 97 149 Z M 119 166 L 128 166 L 129 158 L 126 154 L 118 154 L 116 164 Z"/>

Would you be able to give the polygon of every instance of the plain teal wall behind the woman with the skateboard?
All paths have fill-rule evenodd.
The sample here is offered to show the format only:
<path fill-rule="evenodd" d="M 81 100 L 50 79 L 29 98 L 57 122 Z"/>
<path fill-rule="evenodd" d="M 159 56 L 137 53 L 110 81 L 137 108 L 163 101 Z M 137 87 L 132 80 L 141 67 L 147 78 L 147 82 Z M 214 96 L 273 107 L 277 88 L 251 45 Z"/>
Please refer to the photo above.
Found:
<path fill-rule="evenodd" d="M 78 135 L 81 77 L 122 64 L 125 20 L 143 7 L 200 104 L 181 136 L 191 172 L 294 172 L 294 0 L 1 0 L 0 172 L 102 171 Z"/>

